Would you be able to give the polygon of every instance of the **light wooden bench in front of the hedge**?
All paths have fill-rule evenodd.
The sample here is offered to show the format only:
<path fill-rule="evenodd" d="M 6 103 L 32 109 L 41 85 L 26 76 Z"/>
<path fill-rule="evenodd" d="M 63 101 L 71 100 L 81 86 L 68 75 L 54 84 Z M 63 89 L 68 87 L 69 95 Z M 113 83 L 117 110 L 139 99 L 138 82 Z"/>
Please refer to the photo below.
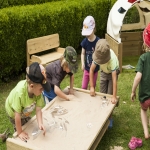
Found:
<path fill-rule="evenodd" d="M 60 48 L 59 34 L 38 37 L 27 40 L 27 66 L 32 62 L 38 62 L 44 66 L 59 59 L 65 49 Z M 51 50 L 52 52 L 49 52 Z M 40 55 L 40 52 L 48 51 Z M 38 54 L 37 54 L 38 53 Z"/>

